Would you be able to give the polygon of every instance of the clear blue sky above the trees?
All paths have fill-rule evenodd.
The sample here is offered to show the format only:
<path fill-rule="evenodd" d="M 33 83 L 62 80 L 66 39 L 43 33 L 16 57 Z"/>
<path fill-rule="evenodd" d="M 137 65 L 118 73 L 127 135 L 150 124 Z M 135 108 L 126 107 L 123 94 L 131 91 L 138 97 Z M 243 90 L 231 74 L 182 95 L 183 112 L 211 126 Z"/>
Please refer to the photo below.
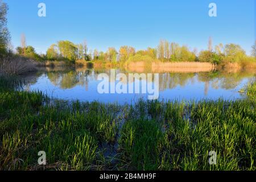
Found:
<path fill-rule="evenodd" d="M 254 0 L 3 0 L 9 5 L 8 27 L 13 46 L 24 33 L 27 45 L 46 52 L 58 40 L 82 43 L 89 49 L 127 45 L 137 50 L 156 47 L 160 39 L 206 49 L 213 44 L 237 43 L 247 53 L 255 41 Z M 38 16 L 46 3 L 47 16 Z M 217 17 L 208 5 L 217 4 Z"/>

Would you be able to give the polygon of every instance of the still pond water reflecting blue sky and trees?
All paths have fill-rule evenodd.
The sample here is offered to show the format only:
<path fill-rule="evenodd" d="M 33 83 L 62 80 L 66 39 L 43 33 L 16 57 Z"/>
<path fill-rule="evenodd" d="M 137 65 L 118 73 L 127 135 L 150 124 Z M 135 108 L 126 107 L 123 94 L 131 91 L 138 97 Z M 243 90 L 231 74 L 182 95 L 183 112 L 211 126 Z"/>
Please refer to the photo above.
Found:
<path fill-rule="evenodd" d="M 123 69 L 115 69 L 115 72 L 125 75 L 135 73 Z M 61 100 L 132 104 L 139 98 L 147 99 L 147 93 L 99 93 L 97 88 L 102 80 L 98 80 L 98 75 L 101 73 L 110 76 L 110 69 L 47 68 L 36 75 L 24 77 L 24 80 L 27 80 L 24 89 L 39 90 L 49 97 Z M 243 93 L 239 91 L 247 82 L 256 78 L 255 73 L 256 70 L 161 72 L 158 79 L 159 100 L 217 100 L 220 97 L 235 100 L 243 97 Z M 118 82 L 115 81 L 114 84 Z M 143 80 L 140 85 L 142 82 Z"/>

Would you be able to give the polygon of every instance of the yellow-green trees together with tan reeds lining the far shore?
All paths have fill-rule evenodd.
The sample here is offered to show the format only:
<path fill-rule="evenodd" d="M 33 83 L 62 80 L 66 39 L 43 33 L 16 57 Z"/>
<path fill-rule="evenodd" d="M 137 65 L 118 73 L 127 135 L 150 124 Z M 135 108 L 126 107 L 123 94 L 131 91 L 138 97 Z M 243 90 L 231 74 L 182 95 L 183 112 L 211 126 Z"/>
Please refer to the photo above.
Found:
<path fill-rule="evenodd" d="M 169 43 L 166 40 L 160 40 L 158 47 L 148 47 L 146 50 L 136 51 L 133 47 L 122 46 L 118 51 L 110 47 L 108 51 L 102 52 L 97 49 L 88 51 L 86 42 L 74 44 L 68 40 L 61 40 L 57 44 L 52 44 L 46 55 L 39 56 L 31 46 L 18 47 L 16 53 L 42 63 L 52 61 L 52 65 L 58 61 L 64 61 L 63 63 L 66 64 L 83 66 L 95 64 L 96 67 L 129 67 L 129 64 L 143 62 L 144 65 L 141 67 L 152 67 L 155 63 L 179 63 L 180 67 L 186 67 L 196 62 L 197 67 L 204 67 L 205 63 L 209 63 L 219 68 L 256 68 L 255 45 L 252 47 L 252 55 L 247 56 L 237 44 L 230 43 L 225 46 L 218 44 L 213 49 L 211 38 L 208 44 L 208 50 L 199 53 L 196 48 L 191 51 L 187 46 L 179 46 L 177 43 Z"/>

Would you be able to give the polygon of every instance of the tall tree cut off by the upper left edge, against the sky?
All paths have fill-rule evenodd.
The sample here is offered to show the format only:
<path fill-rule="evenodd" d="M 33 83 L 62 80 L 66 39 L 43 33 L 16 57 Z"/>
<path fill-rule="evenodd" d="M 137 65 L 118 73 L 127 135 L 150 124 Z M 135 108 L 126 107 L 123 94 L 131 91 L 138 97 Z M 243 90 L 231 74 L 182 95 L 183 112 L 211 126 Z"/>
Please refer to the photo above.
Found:
<path fill-rule="evenodd" d="M 10 43 L 10 32 L 6 26 L 7 24 L 7 10 L 8 6 L 0 0 L 0 56 L 7 53 Z"/>

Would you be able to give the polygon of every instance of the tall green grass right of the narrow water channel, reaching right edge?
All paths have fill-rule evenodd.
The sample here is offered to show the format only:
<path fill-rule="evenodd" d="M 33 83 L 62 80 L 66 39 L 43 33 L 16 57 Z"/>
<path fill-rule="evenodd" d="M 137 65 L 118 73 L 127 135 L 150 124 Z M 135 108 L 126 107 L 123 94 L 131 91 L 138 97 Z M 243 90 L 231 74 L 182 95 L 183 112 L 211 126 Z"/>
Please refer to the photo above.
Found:
<path fill-rule="evenodd" d="M 167 102 L 159 118 L 127 121 L 120 150 L 125 169 L 255 170 L 255 102 Z M 144 102 L 144 115 L 149 115 Z M 156 105 L 156 102 L 153 102 Z M 144 118 L 144 117 L 142 117 Z M 210 151 L 217 153 L 210 165 Z"/>

